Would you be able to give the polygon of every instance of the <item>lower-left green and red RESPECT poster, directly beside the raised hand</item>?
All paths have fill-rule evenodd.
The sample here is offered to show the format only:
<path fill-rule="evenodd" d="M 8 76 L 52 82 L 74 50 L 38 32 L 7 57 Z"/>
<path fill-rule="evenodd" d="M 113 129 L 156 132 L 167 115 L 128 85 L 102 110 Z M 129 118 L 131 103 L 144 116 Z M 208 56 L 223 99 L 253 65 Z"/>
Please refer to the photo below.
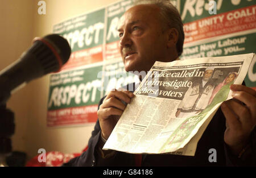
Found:
<path fill-rule="evenodd" d="M 84 125 L 97 121 L 102 64 L 50 76 L 47 126 Z M 97 76 L 99 78 L 97 78 Z"/>

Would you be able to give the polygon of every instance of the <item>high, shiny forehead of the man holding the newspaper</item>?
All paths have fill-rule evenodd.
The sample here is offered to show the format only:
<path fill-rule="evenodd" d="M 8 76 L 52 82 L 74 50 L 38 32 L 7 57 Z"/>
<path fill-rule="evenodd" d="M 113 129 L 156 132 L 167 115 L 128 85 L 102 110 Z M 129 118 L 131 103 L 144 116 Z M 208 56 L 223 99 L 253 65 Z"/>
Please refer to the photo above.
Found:
<path fill-rule="evenodd" d="M 158 11 L 159 7 L 155 5 L 133 6 L 121 16 L 118 23 L 118 29 L 122 28 L 125 24 L 143 22 L 148 20 L 148 18 L 154 18 Z"/>

